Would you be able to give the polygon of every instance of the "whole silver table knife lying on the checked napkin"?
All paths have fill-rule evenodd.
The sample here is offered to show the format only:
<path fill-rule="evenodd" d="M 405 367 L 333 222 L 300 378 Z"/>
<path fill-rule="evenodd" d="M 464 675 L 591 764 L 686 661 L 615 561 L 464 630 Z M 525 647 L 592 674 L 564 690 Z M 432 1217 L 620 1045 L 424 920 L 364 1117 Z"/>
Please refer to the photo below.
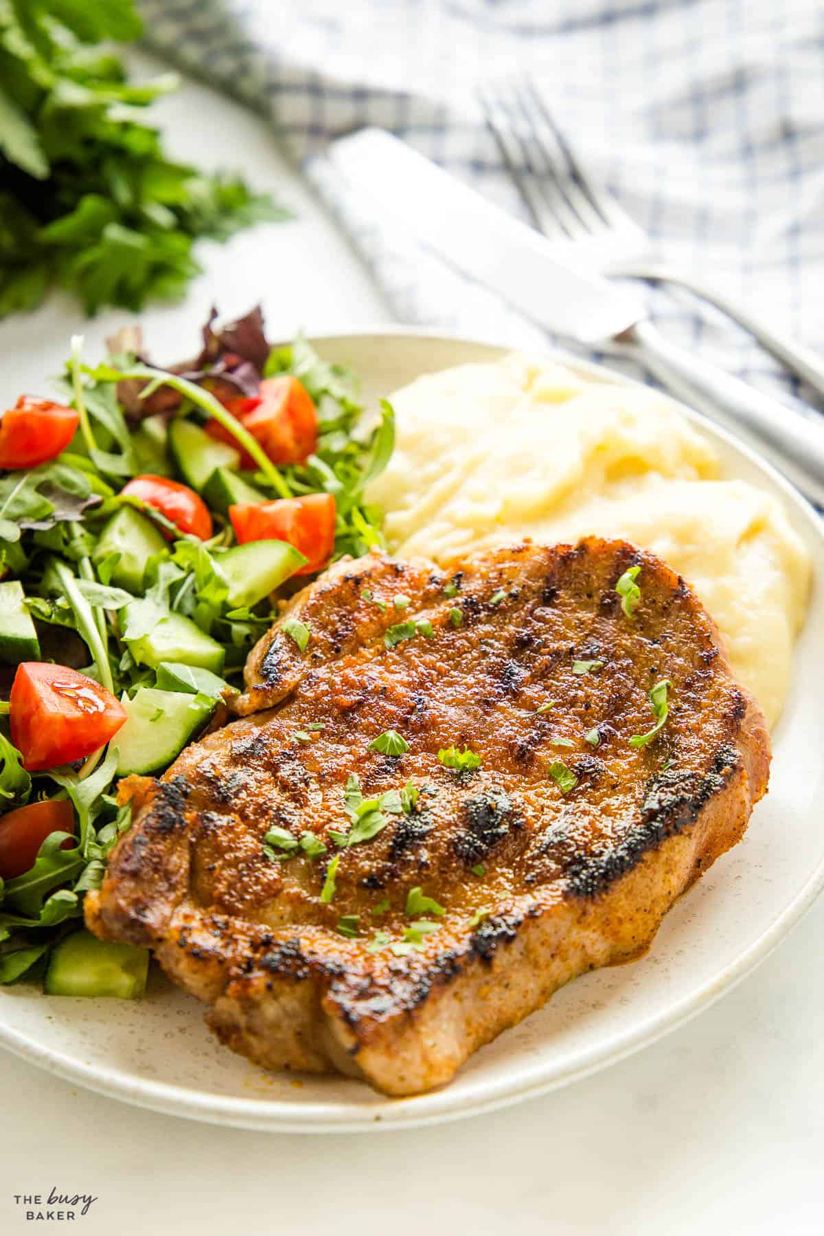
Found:
<path fill-rule="evenodd" d="M 555 334 L 633 356 L 824 506 L 824 421 L 667 342 L 631 292 L 567 266 L 540 232 L 384 130 L 341 137 L 330 145 L 329 157 L 340 176 L 451 266 Z"/>

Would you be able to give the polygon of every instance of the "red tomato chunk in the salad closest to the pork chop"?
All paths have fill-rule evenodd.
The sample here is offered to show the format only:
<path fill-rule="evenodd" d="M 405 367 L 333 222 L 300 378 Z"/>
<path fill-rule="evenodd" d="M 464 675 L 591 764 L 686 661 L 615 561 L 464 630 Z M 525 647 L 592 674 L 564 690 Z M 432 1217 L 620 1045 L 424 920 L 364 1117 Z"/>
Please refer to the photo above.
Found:
<path fill-rule="evenodd" d="M 309 561 L 296 575 L 319 571 L 335 549 L 335 498 L 331 493 L 243 502 L 229 508 L 229 518 L 241 545 L 253 540 L 284 540 L 300 550 Z"/>

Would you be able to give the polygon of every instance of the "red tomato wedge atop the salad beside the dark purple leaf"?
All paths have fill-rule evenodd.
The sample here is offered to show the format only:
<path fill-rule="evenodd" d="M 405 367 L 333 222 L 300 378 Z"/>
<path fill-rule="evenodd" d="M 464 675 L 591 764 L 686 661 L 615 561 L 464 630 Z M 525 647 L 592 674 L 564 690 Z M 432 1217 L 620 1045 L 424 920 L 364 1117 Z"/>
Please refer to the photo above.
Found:
<path fill-rule="evenodd" d="M 229 399 L 225 407 L 258 440 L 273 464 L 305 464 L 317 449 L 317 409 L 298 378 L 289 375 L 264 378 L 257 399 Z M 206 433 L 237 446 L 237 440 L 216 420 L 206 423 Z M 257 464 L 242 452 L 241 466 L 253 468 Z"/>

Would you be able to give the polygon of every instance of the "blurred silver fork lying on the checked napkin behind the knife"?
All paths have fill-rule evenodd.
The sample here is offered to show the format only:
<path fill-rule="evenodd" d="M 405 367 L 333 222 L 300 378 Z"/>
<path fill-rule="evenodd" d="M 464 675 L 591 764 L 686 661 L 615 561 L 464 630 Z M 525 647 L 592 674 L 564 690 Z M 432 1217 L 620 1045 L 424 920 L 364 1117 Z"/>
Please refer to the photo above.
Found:
<path fill-rule="evenodd" d="M 824 397 L 824 360 L 692 272 L 668 265 L 608 189 L 587 174 L 535 89 L 511 83 L 479 91 L 487 122 L 540 231 L 607 276 L 679 284 L 750 331 L 766 351 Z M 526 173 L 526 174 L 525 174 Z"/>

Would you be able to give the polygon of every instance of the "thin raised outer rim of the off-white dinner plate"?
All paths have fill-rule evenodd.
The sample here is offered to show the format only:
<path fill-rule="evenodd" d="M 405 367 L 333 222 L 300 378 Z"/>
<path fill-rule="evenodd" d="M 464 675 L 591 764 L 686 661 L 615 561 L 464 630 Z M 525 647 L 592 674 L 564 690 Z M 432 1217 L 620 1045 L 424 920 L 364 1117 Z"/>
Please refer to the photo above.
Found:
<path fill-rule="evenodd" d="M 340 331 L 311 336 L 311 342 L 321 353 L 336 345 L 364 344 L 367 340 L 414 339 L 429 340 L 439 349 L 448 350 L 477 349 L 486 352 L 486 358 L 494 360 L 514 350 L 483 337 L 466 337 L 445 334 L 440 329 L 420 329 L 411 326 L 379 325 L 371 329 Z M 610 370 L 603 365 L 584 361 L 578 356 L 561 350 L 528 349 L 529 355 L 541 356 L 546 361 L 566 365 L 582 376 L 595 381 L 618 382 L 628 386 L 644 386 L 634 378 Z M 478 355 L 478 360 L 484 358 Z M 446 365 L 456 363 L 446 361 Z M 445 366 L 436 365 L 434 368 Z M 791 486 L 781 473 L 765 459 L 739 442 L 731 434 L 714 425 L 707 418 L 677 403 L 681 412 L 699 425 L 720 449 L 723 455 L 742 457 L 750 466 L 766 475 L 773 489 L 778 489 L 787 512 L 813 554 L 824 555 L 824 520 L 813 507 Z M 820 581 L 814 582 L 814 590 L 820 588 Z M 812 603 L 810 603 L 812 604 Z M 91 1062 L 80 1062 L 61 1052 L 43 1047 L 30 1036 L 22 1035 L 12 1026 L 0 1021 L 0 1044 L 67 1082 L 86 1086 L 98 1094 L 119 1099 L 140 1107 L 183 1116 L 208 1124 L 229 1125 L 271 1132 L 366 1132 L 380 1128 L 411 1128 L 448 1120 L 458 1120 L 482 1112 L 495 1111 L 536 1098 L 560 1086 L 568 1085 L 588 1077 L 608 1064 L 616 1063 L 654 1043 L 670 1031 L 686 1025 L 698 1014 L 713 1005 L 721 995 L 730 991 L 745 979 L 781 943 L 792 927 L 813 905 L 824 889 L 824 854 L 810 871 L 802 887 L 792 896 L 772 923 L 763 929 L 752 943 L 744 949 L 733 964 L 724 967 L 710 980 L 692 991 L 688 996 L 675 1000 L 665 1011 L 639 1021 L 625 1032 L 614 1035 L 598 1047 L 592 1047 L 578 1057 L 562 1060 L 561 1064 L 540 1059 L 520 1070 L 518 1077 L 503 1077 L 479 1088 L 481 1095 L 472 1101 L 458 1091 L 445 1086 L 431 1094 L 410 1099 L 387 1099 L 378 1105 L 361 1106 L 358 1104 L 332 1101 L 283 1101 L 268 1099 L 242 1099 L 198 1093 L 189 1088 L 168 1083 L 132 1078 L 124 1073 Z"/>

